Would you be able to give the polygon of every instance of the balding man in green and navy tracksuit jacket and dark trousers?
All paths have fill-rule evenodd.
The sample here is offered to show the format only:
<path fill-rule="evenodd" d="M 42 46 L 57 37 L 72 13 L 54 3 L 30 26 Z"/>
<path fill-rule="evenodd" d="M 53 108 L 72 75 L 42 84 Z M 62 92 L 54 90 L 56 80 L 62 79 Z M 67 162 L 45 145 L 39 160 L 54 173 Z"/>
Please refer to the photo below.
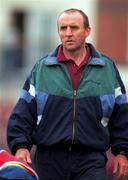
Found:
<path fill-rule="evenodd" d="M 105 180 L 106 155 L 114 173 L 128 173 L 128 103 L 113 61 L 86 43 L 88 17 L 78 9 L 58 18 L 62 44 L 39 60 L 8 124 L 13 154 L 31 162 L 42 180 Z"/>

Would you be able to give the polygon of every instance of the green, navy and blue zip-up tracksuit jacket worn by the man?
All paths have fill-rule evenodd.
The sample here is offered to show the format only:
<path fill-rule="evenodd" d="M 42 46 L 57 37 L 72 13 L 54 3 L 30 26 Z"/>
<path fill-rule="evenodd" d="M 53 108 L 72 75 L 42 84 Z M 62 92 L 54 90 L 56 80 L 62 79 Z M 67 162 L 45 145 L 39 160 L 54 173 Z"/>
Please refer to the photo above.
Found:
<path fill-rule="evenodd" d="M 128 102 L 114 62 L 88 44 L 91 56 L 77 90 L 58 48 L 40 59 L 27 78 L 8 123 L 12 153 L 69 143 L 113 154 L 128 151 Z"/>

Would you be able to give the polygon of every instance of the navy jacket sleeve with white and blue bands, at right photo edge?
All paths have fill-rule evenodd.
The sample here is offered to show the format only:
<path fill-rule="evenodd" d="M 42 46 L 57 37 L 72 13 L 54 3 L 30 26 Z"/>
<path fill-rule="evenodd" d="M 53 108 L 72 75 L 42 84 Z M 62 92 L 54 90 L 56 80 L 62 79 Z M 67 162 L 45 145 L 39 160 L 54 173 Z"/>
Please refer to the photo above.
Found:
<path fill-rule="evenodd" d="M 117 86 L 115 88 L 115 107 L 109 121 L 109 128 L 111 151 L 117 155 L 121 151 L 128 152 L 128 100 L 124 84 L 115 65 L 114 68 Z"/>

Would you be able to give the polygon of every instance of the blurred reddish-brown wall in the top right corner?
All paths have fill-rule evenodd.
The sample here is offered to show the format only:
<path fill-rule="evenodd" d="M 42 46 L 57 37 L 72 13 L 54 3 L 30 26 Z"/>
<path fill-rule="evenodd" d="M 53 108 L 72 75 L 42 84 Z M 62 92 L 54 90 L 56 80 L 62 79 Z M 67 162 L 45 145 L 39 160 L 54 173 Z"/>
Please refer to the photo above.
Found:
<path fill-rule="evenodd" d="M 128 41 L 128 1 L 99 0 L 97 47 L 116 63 L 125 64 Z"/>

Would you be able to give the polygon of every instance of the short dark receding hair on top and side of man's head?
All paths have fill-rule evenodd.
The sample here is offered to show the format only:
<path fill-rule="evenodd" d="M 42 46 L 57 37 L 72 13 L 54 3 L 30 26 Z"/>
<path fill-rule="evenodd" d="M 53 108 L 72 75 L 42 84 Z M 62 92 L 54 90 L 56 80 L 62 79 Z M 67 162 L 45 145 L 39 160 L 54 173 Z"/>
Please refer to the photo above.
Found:
<path fill-rule="evenodd" d="M 80 9 L 75 9 L 75 8 L 70 8 L 70 9 L 67 9 L 67 10 L 64 10 L 62 13 L 72 13 L 72 12 L 79 12 L 82 17 L 83 17 L 83 20 L 84 20 L 84 27 L 89 27 L 89 19 L 88 19 L 88 16 Z"/>

